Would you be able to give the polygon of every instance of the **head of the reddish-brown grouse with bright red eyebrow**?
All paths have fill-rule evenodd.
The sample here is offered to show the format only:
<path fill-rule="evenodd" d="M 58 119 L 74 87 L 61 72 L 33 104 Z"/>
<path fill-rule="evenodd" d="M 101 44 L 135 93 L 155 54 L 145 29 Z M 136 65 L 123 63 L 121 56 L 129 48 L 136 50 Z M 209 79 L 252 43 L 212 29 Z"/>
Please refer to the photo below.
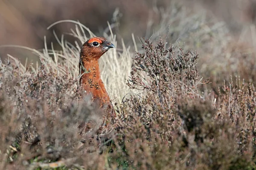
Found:
<path fill-rule="evenodd" d="M 81 47 L 80 57 L 87 61 L 98 60 L 108 49 L 115 46 L 103 37 L 92 37 Z"/>

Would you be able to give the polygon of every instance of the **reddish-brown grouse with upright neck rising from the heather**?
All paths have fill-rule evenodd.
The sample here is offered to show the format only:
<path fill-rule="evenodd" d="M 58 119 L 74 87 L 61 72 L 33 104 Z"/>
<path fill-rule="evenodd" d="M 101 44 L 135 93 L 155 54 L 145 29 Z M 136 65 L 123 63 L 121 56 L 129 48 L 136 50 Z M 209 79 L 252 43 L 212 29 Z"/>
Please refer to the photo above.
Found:
<path fill-rule="evenodd" d="M 104 37 L 92 37 L 82 45 L 79 59 L 79 84 L 87 95 L 92 96 L 93 102 L 98 102 L 100 107 L 105 108 L 106 116 L 111 117 L 113 122 L 116 112 L 102 82 L 99 69 L 99 58 L 111 48 L 115 46 Z"/>

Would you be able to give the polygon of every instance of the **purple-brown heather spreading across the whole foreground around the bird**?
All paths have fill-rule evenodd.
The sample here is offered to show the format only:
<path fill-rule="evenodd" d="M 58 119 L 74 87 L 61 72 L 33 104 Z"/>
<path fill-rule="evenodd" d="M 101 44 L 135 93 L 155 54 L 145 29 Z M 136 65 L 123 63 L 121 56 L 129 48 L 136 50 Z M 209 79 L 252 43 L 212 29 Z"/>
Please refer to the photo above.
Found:
<path fill-rule="evenodd" d="M 139 92 L 115 105 L 118 118 L 108 134 L 98 131 L 103 112 L 77 89 L 76 78 L 44 64 L 23 73 L 1 63 L 0 168 L 44 169 L 49 162 L 73 169 L 255 168 L 253 84 L 231 77 L 217 84 L 216 98 L 207 90 L 212 80 L 198 72 L 197 52 L 161 36 L 155 46 L 142 43 L 127 84 Z M 81 131 L 89 121 L 95 127 Z"/>

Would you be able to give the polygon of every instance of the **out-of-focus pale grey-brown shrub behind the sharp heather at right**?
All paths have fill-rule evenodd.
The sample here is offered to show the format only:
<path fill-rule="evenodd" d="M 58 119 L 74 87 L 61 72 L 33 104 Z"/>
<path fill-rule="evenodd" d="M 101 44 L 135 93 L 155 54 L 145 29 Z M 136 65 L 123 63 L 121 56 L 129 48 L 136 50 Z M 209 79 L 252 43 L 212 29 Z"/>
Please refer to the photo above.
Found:
<path fill-rule="evenodd" d="M 254 26 L 251 29 L 244 28 L 247 33 L 243 31 L 241 35 L 233 37 L 227 23 L 200 7 L 186 5 L 172 1 L 166 9 L 159 9 L 160 26 L 154 29 L 148 24 L 148 29 L 152 32 L 154 30 L 154 34 L 148 33 L 147 37 L 151 37 L 154 43 L 159 33 L 169 35 L 166 36 L 169 43 L 179 39 L 185 42 L 184 50 L 193 49 L 201 54 L 197 64 L 198 72 L 201 77 L 210 78 L 212 83 L 207 84 L 207 87 L 215 93 L 218 93 L 223 80 L 229 81 L 230 75 L 240 76 L 255 84 L 255 52 L 251 48 L 254 43 L 243 41 L 245 34 L 250 33 L 249 36 L 254 37 Z"/>

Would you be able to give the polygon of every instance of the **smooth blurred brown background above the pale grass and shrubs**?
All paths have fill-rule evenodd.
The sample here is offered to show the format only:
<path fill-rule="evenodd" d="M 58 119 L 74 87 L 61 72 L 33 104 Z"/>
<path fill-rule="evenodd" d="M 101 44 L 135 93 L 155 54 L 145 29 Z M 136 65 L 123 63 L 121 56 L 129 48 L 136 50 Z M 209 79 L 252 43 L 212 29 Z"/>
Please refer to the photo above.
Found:
<path fill-rule="evenodd" d="M 0 45 L 21 45 L 40 50 L 44 48 L 44 35 L 47 46 L 50 46 L 51 42 L 56 43 L 53 30 L 61 37 L 74 28 L 72 23 L 60 23 L 47 30 L 48 26 L 59 20 L 79 20 L 97 36 L 108 32 L 109 21 L 117 40 L 123 38 L 126 45 L 132 46 L 132 33 L 135 37 L 147 38 L 156 30 L 167 30 L 169 24 L 179 25 L 188 18 L 187 13 L 186 16 L 175 13 L 173 6 L 176 6 L 176 11 L 186 8 L 190 15 L 209 15 L 218 22 L 223 21 L 234 40 L 253 46 L 256 0 L 0 0 Z M 177 18 L 176 14 L 180 15 L 179 20 L 164 23 L 171 21 L 166 18 Z M 177 28 L 170 35 L 174 42 L 182 38 L 179 33 L 182 28 Z M 65 35 L 65 39 L 73 42 L 74 38 Z M 0 57 L 6 58 L 6 54 L 21 62 L 26 57 L 38 60 L 24 49 L 0 48 Z"/>

